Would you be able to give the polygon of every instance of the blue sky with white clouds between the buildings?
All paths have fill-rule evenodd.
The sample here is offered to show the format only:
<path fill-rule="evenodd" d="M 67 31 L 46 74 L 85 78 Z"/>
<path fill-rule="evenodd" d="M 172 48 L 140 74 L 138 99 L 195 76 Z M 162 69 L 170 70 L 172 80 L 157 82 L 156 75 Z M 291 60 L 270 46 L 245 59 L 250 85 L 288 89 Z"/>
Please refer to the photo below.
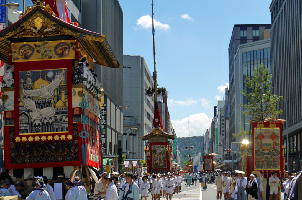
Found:
<path fill-rule="evenodd" d="M 119 0 L 124 54 L 143 56 L 153 72 L 151 0 Z M 154 0 L 156 71 L 166 87 L 178 137 L 203 135 L 228 85 L 234 24 L 269 24 L 271 0 Z M 149 15 L 149 16 L 148 16 Z"/>

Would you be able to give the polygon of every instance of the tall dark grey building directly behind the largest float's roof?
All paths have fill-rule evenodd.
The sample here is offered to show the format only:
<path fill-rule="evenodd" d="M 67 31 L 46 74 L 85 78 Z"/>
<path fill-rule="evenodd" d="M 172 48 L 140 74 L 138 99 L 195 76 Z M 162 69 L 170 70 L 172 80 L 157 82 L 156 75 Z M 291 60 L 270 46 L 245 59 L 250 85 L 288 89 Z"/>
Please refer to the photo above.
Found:
<path fill-rule="evenodd" d="M 74 1 L 74 0 L 72 0 Z M 69 1 L 70 2 L 70 1 Z M 119 63 L 123 63 L 123 11 L 118 0 L 83 0 L 82 5 L 89 9 L 82 9 L 82 28 L 104 34 Z M 95 74 L 104 89 L 104 107 L 102 123 L 105 131 L 103 156 L 114 158 L 117 153 L 122 154 L 123 133 L 123 67 L 119 69 L 95 65 Z M 125 109 L 124 109 L 125 110 Z M 115 113 L 116 126 L 115 130 Z M 120 142 L 115 141 L 117 132 Z M 115 152 L 115 145 L 118 152 Z"/>

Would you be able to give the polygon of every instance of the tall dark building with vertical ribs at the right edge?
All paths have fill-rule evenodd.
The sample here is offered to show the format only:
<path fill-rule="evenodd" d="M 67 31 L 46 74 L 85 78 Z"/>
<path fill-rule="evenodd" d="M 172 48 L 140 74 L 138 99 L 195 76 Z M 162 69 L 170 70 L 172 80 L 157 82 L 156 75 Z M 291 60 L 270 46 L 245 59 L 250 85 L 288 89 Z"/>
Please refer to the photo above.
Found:
<path fill-rule="evenodd" d="M 288 123 L 289 160 L 294 161 L 286 170 L 295 171 L 302 169 L 301 5 L 300 0 L 273 0 L 270 5 L 273 94 L 283 96 L 288 104 L 287 110 L 285 101 L 281 100 L 277 109 L 283 110 L 278 118 L 286 119 L 283 123 L 283 145 L 287 145 Z"/>

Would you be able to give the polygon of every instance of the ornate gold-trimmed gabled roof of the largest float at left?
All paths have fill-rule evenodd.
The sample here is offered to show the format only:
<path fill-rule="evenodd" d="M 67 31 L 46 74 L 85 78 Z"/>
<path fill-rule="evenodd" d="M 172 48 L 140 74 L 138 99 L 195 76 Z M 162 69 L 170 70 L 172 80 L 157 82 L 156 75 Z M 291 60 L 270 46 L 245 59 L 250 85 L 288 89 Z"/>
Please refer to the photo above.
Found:
<path fill-rule="evenodd" d="M 121 66 L 105 35 L 60 20 L 48 7 L 28 7 L 20 20 L 0 31 L 0 60 L 8 63 L 10 43 L 78 39 L 94 63 L 111 68 Z"/>

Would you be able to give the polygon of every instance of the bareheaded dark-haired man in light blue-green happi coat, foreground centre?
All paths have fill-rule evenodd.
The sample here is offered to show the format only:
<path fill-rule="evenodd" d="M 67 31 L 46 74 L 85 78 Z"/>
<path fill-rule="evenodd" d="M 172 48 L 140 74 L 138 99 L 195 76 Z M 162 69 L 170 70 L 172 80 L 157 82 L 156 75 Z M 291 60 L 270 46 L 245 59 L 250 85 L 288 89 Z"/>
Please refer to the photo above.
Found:
<path fill-rule="evenodd" d="M 122 187 L 120 188 L 120 195 L 118 200 L 140 200 L 140 189 L 138 185 L 132 180 L 133 174 L 126 173 L 125 180 Z"/>

